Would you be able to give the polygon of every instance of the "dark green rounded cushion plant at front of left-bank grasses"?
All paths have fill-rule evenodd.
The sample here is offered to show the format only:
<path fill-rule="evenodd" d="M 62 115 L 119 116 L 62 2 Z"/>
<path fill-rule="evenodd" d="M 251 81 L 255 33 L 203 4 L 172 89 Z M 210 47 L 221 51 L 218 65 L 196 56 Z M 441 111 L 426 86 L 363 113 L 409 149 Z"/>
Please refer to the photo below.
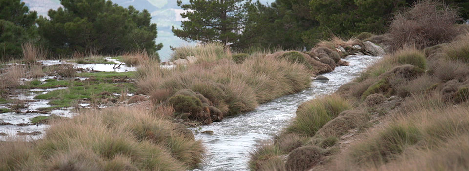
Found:
<path fill-rule="evenodd" d="M 176 112 L 196 114 L 203 110 L 202 101 L 193 96 L 177 94 L 169 98 L 168 103 L 174 107 Z"/>

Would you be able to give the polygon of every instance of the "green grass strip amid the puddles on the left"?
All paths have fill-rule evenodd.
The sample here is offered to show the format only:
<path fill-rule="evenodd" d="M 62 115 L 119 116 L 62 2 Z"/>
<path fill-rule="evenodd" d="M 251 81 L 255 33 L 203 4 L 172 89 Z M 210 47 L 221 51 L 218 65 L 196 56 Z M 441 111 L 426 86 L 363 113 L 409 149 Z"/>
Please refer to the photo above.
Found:
<path fill-rule="evenodd" d="M 79 99 L 97 98 L 97 96 L 102 92 L 121 93 L 124 90 L 127 90 L 130 93 L 135 92 L 135 84 L 99 83 L 85 84 L 83 86 L 71 86 L 68 89 L 54 90 L 46 94 L 37 95 L 34 99 L 51 100 L 49 104 L 54 105 L 52 108 L 68 107 L 71 106 L 72 102 Z"/>

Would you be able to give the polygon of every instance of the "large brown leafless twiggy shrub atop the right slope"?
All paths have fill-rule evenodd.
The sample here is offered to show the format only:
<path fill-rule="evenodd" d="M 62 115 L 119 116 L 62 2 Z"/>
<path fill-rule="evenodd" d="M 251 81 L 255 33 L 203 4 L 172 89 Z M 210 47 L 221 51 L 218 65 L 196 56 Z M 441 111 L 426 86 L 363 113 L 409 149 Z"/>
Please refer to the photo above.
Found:
<path fill-rule="evenodd" d="M 437 0 L 422 0 L 394 16 L 389 36 L 394 49 L 406 44 L 423 49 L 451 41 L 457 35 L 454 25 L 459 19 L 456 9 Z"/>

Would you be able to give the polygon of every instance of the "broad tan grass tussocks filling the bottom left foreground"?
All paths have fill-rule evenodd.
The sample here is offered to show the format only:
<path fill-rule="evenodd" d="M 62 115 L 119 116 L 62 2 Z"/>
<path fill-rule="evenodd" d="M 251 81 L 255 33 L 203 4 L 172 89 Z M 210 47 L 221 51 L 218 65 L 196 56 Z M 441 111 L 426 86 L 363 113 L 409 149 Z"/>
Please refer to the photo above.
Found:
<path fill-rule="evenodd" d="M 184 171 L 203 160 L 204 148 L 176 124 L 138 108 L 88 110 L 56 120 L 41 141 L 2 144 L 10 170 Z M 188 138 L 189 137 L 189 138 Z M 21 147 L 21 148 L 19 148 Z M 12 150 L 17 149 L 15 152 Z"/>

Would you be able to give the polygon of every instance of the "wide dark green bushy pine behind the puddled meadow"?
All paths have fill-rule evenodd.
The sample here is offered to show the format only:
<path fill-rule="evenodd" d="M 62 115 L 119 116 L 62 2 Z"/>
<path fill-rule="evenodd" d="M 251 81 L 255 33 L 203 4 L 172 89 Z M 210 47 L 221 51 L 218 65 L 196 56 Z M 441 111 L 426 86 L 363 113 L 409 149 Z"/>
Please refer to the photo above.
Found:
<path fill-rule="evenodd" d="M 73 52 L 114 54 L 145 49 L 156 55 L 156 24 L 147 10 L 123 8 L 106 0 L 62 0 L 63 8 L 50 10 L 50 19 L 38 19 L 39 34 L 56 54 Z"/>

